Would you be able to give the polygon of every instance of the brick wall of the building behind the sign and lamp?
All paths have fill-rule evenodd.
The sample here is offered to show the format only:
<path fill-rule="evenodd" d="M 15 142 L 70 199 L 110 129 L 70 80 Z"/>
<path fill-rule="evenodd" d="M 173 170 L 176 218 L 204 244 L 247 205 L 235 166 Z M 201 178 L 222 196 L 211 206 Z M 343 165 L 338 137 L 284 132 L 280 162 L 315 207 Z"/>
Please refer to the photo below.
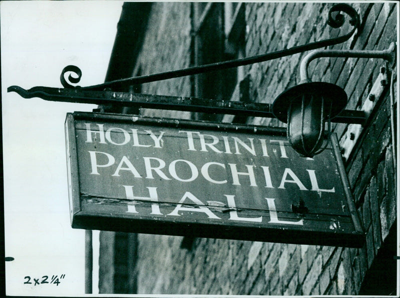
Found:
<path fill-rule="evenodd" d="M 325 24 L 331 4 L 246 3 L 246 56 L 301 45 L 348 32 Z M 332 48 L 384 49 L 396 41 L 393 3 L 353 3 L 363 30 Z M 137 65 L 141 74 L 190 65 L 190 3 L 154 3 Z M 299 53 L 245 67 L 249 97 L 271 103 L 298 83 Z M 383 62 L 378 59 L 321 58 L 309 67 L 312 80 L 336 83 L 349 96 L 347 108 L 362 106 Z M 137 67 L 136 67 L 137 70 Z M 390 69 L 391 70 L 391 69 Z M 395 71 L 394 71 L 395 73 Z M 143 84 L 143 93 L 189 96 L 190 78 Z M 190 113 L 143 110 L 145 115 L 189 118 Z M 281 125 L 250 117 L 248 124 Z M 347 125 L 336 124 L 339 138 Z M 358 215 L 366 231 L 362 248 L 295 245 L 137 235 L 137 292 L 146 294 L 316 295 L 359 292 L 362 280 L 396 219 L 395 169 L 390 136 L 390 100 L 385 92 L 359 142 L 345 162 Z"/>

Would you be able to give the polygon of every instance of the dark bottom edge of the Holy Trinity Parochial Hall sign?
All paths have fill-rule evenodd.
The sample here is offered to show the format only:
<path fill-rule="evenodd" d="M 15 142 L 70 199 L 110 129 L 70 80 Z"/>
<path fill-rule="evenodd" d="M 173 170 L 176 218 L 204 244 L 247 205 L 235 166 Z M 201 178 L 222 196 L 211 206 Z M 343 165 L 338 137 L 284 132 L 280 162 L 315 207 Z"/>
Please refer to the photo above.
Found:
<path fill-rule="evenodd" d="M 155 228 L 149 219 L 113 218 L 112 221 L 104 221 L 101 215 L 89 215 L 85 212 L 74 214 L 73 228 L 132 232 L 132 225 L 136 225 L 137 233 L 195 236 L 216 239 L 232 239 L 244 241 L 277 242 L 289 244 L 327 245 L 360 248 L 363 245 L 364 235 L 358 232 L 351 233 L 327 233 L 326 231 L 301 232 L 291 229 L 234 226 L 234 228 L 221 228 L 214 224 L 192 222 L 188 224 L 173 221 L 163 222 L 162 227 Z"/>

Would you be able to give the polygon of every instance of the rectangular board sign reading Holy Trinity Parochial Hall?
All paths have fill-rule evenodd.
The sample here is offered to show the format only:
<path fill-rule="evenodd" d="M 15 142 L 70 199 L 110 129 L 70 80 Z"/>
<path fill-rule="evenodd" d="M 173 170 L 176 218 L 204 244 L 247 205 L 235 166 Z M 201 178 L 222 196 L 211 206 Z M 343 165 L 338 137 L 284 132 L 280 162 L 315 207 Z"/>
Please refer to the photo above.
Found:
<path fill-rule="evenodd" d="M 68 113 L 65 129 L 74 228 L 364 241 L 331 143 L 304 158 L 279 128 L 83 112 Z"/>

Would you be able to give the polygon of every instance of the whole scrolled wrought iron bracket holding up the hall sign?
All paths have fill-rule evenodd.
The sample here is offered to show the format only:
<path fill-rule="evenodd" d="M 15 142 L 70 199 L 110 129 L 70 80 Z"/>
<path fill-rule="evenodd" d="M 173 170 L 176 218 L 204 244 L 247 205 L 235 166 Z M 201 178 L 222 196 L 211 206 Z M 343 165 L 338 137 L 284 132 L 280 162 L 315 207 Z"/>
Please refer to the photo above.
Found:
<path fill-rule="evenodd" d="M 328 38 L 252 57 L 193 66 L 184 69 L 137 77 L 129 77 L 85 87 L 74 86 L 71 84 L 78 83 L 82 73 L 77 66 L 68 65 L 64 67 L 60 75 L 61 84 L 64 88 L 36 86 L 26 90 L 19 86 L 10 86 L 8 87 L 7 91 L 17 92 L 24 98 L 40 97 L 42 99 L 51 101 L 92 103 L 99 105 L 111 104 L 114 106 L 134 106 L 184 111 L 203 111 L 222 114 L 240 114 L 259 117 L 274 117 L 271 112 L 271 105 L 268 103 L 244 103 L 193 97 L 147 95 L 132 92 L 121 92 L 121 90 L 127 89 L 128 86 L 133 84 L 142 84 L 214 70 L 238 67 L 342 43 L 348 40 L 353 35 L 355 30 L 359 30 L 360 19 L 353 7 L 345 3 L 337 3 L 329 9 L 327 19 L 328 25 L 333 28 L 341 27 L 345 20 L 345 17 L 341 12 L 346 13 L 350 17 L 349 23 L 352 26 L 352 29 L 348 33 L 335 38 Z M 65 73 L 67 72 L 75 73 L 74 76 L 69 74 L 68 81 L 65 79 Z M 361 124 L 364 123 L 365 118 L 366 115 L 362 111 L 343 110 L 338 116 L 333 118 L 332 121 Z"/>

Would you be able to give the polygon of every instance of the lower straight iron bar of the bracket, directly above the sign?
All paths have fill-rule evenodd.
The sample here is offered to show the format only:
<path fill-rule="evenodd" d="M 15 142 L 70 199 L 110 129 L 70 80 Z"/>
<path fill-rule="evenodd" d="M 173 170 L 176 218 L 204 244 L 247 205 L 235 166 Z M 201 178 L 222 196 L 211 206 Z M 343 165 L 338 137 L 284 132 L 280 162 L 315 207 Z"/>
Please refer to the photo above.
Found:
<path fill-rule="evenodd" d="M 40 97 L 50 101 L 92 103 L 114 106 L 172 109 L 181 111 L 212 112 L 217 114 L 245 115 L 273 118 L 271 104 L 260 102 L 240 102 L 195 97 L 149 95 L 130 92 L 93 91 L 84 88 L 63 89 L 33 87 L 25 90 L 19 86 L 9 86 L 8 92 L 17 92 L 23 98 Z M 338 123 L 365 122 L 365 113 L 358 110 L 342 110 L 332 119 Z"/>

